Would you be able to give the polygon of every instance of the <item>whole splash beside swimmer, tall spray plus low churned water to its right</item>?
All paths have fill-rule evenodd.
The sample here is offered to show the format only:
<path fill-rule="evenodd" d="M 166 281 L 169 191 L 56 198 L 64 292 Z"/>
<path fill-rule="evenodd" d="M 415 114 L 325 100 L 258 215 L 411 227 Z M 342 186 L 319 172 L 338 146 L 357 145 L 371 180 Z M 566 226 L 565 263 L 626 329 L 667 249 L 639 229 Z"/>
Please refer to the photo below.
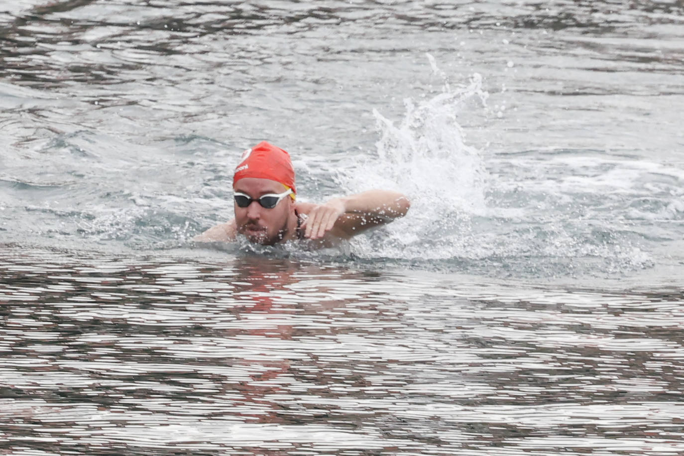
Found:
<path fill-rule="evenodd" d="M 587 271 L 601 275 L 653 265 L 625 226 L 604 220 L 603 215 L 578 218 L 590 209 L 583 196 L 549 188 L 543 198 L 551 206 L 540 206 L 538 193 L 545 180 L 539 176 L 562 179 L 575 176 L 577 170 L 559 170 L 554 159 L 534 156 L 540 167 L 530 180 L 518 170 L 525 158 L 486 163 L 482 150 L 468 144 L 458 122 L 479 113 L 473 109 L 488 115 L 482 77 L 475 74 L 466 84 L 450 85 L 434 59 L 428 59 L 444 81 L 440 93 L 404 100 L 406 111 L 398 124 L 373 110 L 380 135 L 376 154 L 356 157 L 353 172 L 339 174 L 347 191 L 397 189 L 412 203 L 408 217 L 354 241 L 354 254 L 421 269 L 497 276 L 560 277 Z M 581 155 L 575 160 L 586 161 Z M 531 187 L 516 190 L 521 179 Z M 502 191 L 510 188 L 514 191 Z"/>

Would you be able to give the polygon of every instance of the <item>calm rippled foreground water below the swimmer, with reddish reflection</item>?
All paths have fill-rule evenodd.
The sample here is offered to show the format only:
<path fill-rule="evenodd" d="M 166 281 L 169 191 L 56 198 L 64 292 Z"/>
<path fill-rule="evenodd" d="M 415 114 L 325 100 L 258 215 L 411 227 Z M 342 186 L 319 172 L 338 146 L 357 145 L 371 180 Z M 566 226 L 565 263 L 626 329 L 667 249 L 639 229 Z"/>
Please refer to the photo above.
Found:
<path fill-rule="evenodd" d="M 684 451 L 681 291 L 4 247 L 0 304 L 0 453 Z"/>

